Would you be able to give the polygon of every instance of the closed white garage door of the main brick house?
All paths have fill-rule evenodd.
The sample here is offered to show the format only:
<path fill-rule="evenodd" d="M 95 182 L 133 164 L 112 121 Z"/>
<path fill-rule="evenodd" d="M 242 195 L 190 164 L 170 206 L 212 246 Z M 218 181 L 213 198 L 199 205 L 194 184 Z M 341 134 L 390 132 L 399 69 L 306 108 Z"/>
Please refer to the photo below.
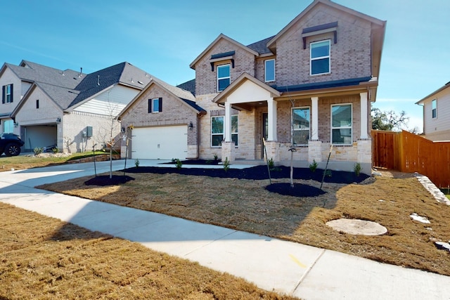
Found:
<path fill-rule="evenodd" d="M 186 159 L 188 126 L 161 126 L 133 129 L 133 159 Z"/>

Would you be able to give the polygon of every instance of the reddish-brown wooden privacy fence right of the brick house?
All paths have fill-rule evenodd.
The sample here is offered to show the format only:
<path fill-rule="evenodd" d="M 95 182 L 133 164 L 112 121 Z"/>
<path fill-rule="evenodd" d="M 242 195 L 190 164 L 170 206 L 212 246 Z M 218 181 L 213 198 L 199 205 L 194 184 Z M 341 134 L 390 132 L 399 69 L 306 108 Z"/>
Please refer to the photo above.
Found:
<path fill-rule="evenodd" d="M 408 131 L 372 131 L 373 167 L 418 172 L 439 188 L 450 186 L 450 142 L 433 142 Z"/>

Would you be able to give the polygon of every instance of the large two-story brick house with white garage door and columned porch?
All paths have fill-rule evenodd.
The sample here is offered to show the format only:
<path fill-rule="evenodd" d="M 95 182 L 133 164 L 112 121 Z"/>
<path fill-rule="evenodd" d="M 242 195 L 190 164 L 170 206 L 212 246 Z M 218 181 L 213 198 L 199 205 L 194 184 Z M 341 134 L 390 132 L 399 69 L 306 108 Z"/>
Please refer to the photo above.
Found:
<path fill-rule="evenodd" d="M 190 65 L 195 89 L 193 81 L 179 86 L 195 95 L 186 99 L 201 109 L 191 110 L 183 97 L 154 84 L 134 98 L 127 108 L 132 114 L 120 114 L 122 126 L 134 127 L 135 145 L 152 138 L 150 129 L 164 132 L 165 126 L 182 124 L 180 136 L 187 130 L 187 142 L 165 143 L 183 147 L 186 155 L 155 156 L 148 148 L 131 149 L 129 157 L 255 160 L 265 156 L 264 139 L 267 157 L 278 164 L 289 164 L 293 150 L 296 166 L 315 160 L 324 167 L 333 144 L 333 168 L 353 170 L 359 162 L 370 174 L 370 112 L 385 24 L 329 0 L 315 0 L 281 32 L 262 41 L 245 46 L 220 34 Z M 150 110 L 148 103 L 158 98 L 165 103 L 165 97 L 171 106 L 165 110 L 162 105 L 164 115 Z M 136 136 L 141 128 L 149 133 Z"/>

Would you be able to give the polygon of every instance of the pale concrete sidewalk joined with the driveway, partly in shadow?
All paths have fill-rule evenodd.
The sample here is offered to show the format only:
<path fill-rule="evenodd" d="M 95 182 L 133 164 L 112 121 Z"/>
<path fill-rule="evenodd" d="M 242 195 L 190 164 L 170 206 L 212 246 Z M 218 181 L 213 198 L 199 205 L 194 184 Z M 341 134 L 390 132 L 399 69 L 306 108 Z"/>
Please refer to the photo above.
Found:
<path fill-rule="evenodd" d="M 141 166 L 160 162 L 143 159 Z M 113 169 L 124 166 L 123 161 L 113 163 Z M 98 174 L 108 171 L 109 162 L 97 162 L 96 169 Z M 0 201 L 140 242 L 302 299 L 450 299 L 447 276 L 34 188 L 93 174 L 92 163 L 0 172 Z"/>

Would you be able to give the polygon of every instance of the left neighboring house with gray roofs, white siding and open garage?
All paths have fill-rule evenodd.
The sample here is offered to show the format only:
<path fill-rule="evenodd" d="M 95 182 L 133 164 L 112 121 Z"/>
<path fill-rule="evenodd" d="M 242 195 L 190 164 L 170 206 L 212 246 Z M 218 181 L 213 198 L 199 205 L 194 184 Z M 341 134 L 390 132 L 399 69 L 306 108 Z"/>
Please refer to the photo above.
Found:
<path fill-rule="evenodd" d="M 101 148 L 111 134 L 116 138 L 120 133 L 114 121 L 118 112 L 150 79 L 129 63 L 91 74 L 27 61 L 5 64 L 0 71 L 3 130 L 19 134 L 25 152 L 53 146 L 64 152 L 83 152 L 95 144 Z M 11 97 L 8 90 L 13 91 Z"/>

